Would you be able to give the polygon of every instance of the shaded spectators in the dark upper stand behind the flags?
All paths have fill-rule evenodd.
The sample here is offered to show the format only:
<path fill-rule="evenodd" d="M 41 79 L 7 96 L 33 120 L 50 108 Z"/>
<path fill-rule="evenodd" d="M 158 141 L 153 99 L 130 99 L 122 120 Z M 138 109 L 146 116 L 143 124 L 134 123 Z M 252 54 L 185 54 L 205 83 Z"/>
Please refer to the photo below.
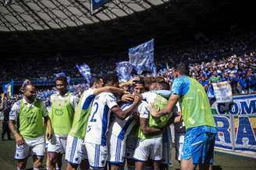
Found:
<path fill-rule="evenodd" d="M 158 70 L 161 70 L 165 68 L 165 63 L 171 67 L 180 61 L 191 64 L 229 57 L 233 54 L 240 56 L 255 49 L 255 36 L 254 32 L 214 37 L 199 33 L 193 40 L 155 48 L 155 63 Z M 57 54 L 48 58 L 34 57 L 23 60 L 12 58 L 0 64 L 0 82 L 9 81 L 11 78 L 13 80 L 53 79 L 55 73 L 62 71 L 71 78 L 79 78 L 81 75 L 76 69 L 76 63 L 86 63 L 91 67 L 92 74 L 104 76 L 115 71 L 116 62 L 128 60 L 128 50 L 104 56 L 95 53 L 94 56 L 62 57 L 61 54 Z"/>

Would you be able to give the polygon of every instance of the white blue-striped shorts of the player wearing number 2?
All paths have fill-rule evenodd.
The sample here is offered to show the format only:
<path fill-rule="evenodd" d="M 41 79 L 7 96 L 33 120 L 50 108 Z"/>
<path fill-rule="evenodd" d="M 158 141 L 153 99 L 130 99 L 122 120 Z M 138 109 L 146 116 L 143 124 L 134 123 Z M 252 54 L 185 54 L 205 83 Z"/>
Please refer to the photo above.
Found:
<path fill-rule="evenodd" d="M 105 168 L 108 158 L 108 147 L 101 144 L 91 144 L 84 142 L 88 161 L 92 169 Z"/>

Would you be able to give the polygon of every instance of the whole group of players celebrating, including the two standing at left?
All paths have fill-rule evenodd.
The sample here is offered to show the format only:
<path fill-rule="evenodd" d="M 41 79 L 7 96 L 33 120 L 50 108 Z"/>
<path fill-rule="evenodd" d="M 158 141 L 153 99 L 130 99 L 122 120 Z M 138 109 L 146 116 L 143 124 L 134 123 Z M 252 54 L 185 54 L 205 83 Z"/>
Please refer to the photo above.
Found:
<path fill-rule="evenodd" d="M 67 170 L 169 169 L 171 123 L 178 124 L 176 144 L 184 140 L 176 150 L 181 169 L 211 169 L 215 123 L 204 88 L 187 73 L 177 65 L 171 90 L 168 82 L 143 77 L 122 84 L 113 75 L 93 77 L 79 100 L 67 90 L 66 77 L 58 77 L 50 109 L 26 83 L 9 114 L 17 169 L 26 168 L 30 154 L 34 170 L 40 169 L 45 148 L 51 170 L 61 169 L 62 154 Z"/>

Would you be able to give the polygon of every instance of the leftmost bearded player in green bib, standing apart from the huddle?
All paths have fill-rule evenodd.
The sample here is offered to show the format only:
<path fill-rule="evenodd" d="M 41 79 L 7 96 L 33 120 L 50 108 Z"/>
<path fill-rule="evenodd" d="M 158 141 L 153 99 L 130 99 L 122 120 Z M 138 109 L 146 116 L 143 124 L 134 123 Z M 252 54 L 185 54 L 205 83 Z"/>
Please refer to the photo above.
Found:
<path fill-rule="evenodd" d="M 41 168 L 44 158 L 44 123 L 47 124 L 47 137 L 50 138 L 52 126 L 44 102 L 36 98 L 34 85 L 24 85 L 23 99 L 15 102 L 9 113 L 9 128 L 16 141 L 14 158 L 18 170 L 26 168 L 30 154 L 33 154 L 34 170 Z"/>

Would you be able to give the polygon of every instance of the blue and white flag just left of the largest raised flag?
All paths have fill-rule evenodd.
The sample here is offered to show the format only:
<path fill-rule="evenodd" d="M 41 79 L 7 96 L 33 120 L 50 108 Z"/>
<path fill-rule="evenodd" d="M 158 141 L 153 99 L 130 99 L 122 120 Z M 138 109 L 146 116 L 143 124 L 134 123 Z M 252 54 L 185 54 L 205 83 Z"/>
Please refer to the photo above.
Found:
<path fill-rule="evenodd" d="M 130 73 L 133 71 L 133 66 L 129 61 L 122 61 L 116 63 L 116 74 L 118 76 L 119 82 L 127 82 L 130 80 Z"/>

